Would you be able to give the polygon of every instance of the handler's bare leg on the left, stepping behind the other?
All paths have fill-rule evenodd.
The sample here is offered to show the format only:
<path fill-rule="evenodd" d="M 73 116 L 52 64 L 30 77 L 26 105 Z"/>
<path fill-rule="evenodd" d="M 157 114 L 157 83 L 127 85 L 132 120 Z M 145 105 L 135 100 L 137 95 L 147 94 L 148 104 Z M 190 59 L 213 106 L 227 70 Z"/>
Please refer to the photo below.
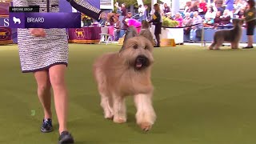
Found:
<path fill-rule="evenodd" d="M 34 73 L 34 78 L 38 83 L 38 98 L 42 104 L 44 111 L 44 119 L 52 118 L 50 110 L 50 78 L 48 71 L 38 71 Z"/>

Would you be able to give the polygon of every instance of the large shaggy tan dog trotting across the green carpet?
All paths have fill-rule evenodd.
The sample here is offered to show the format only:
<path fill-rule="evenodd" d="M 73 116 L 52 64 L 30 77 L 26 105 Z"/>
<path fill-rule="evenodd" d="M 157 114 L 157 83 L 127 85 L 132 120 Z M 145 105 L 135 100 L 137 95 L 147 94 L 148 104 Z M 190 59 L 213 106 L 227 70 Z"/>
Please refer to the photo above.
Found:
<path fill-rule="evenodd" d="M 156 119 L 152 103 L 154 86 L 150 75 L 154 63 L 150 36 L 138 34 L 134 26 L 126 31 L 122 49 L 103 54 L 94 62 L 94 78 L 101 95 L 104 118 L 126 122 L 127 96 L 134 96 L 138 126 L 150 130 Z"/>

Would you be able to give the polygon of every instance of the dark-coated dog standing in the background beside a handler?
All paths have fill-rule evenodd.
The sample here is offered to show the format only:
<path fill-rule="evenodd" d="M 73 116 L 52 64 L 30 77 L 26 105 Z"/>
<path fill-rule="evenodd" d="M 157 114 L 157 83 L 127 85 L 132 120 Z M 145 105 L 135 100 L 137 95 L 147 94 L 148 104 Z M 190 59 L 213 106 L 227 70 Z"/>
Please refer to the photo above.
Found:
<path fill-rule="evenodd" d="M 242 37 L 242 25 L 244 20 L 234 18 L 232 20 L 233 28 L 230 30 L 217 30 L 214 33 L 214 42 L 209 46 L 210 50 L 219 50 L 223 42 L 230 42 L 232 49 L 238 49 L 238 44 Z"/>

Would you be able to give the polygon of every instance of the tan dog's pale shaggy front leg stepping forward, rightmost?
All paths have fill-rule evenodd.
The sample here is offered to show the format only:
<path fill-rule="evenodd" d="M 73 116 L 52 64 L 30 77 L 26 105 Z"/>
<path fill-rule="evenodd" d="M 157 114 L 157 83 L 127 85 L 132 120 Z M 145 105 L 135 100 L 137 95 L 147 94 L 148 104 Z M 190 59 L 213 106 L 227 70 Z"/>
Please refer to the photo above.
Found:
<path fill-rule="evenodd" d="M 151 100 L 152 94 L 134 95 L 134 102 L 137 108 L 136 120 L 142 130 L 150 130 L 156 119 Z"/>

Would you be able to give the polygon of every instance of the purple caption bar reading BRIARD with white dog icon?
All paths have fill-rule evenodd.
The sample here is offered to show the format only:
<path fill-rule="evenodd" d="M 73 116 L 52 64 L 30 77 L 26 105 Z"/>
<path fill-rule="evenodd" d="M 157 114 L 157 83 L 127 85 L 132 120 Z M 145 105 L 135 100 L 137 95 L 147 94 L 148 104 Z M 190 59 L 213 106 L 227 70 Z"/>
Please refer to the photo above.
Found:
<path fill-rule="evenodd" d="M 80 28 L 80 13 L 10 13 L 10 28 Z"/>

